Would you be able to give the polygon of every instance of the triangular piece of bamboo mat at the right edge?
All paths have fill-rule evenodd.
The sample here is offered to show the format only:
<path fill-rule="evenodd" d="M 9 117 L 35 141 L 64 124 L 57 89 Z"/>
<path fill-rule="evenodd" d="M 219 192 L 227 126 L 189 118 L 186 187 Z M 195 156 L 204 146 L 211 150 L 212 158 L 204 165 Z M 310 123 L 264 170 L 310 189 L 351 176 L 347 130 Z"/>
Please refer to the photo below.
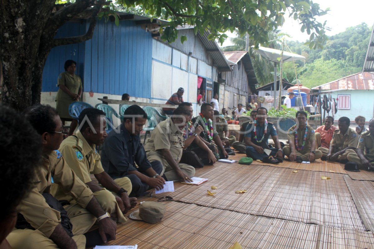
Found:
<path fill-rule="evenodd" d="M 374 183 L 371 181 L 355 181 L 344 176 L 358 213 L 367 230 L 374 231 Z"/>

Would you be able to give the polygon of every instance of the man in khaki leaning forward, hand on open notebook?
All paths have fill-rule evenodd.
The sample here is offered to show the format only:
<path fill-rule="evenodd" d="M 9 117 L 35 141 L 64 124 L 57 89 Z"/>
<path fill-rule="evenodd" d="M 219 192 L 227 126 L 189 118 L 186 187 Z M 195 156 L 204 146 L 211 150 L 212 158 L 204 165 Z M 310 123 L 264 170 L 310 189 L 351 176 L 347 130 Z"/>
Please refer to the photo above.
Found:
<path fill-rule="evenodd" d="M 150 140 L 144 148 L 149 161 L 162 163 L 163 175 L 168 181 L 191 181 L 195 175 L 195 168 L 188 164 L 180 163 L 184 147 L 183 129 L 186 125 L 184 110 L 178 107 L 173 115 L 160 122 L 151 133 Z"/>

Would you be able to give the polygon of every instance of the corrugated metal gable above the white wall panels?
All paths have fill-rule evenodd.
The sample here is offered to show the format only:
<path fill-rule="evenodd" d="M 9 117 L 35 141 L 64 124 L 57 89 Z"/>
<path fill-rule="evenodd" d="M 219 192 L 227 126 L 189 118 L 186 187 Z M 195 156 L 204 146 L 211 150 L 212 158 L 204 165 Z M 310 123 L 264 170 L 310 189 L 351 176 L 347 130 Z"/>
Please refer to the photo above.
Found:
<path fill-rule="evenodd" d="M 181 43 L 181 36 L 186 35 L 187 41 Z M 203 62 L 212 65 L 212 57 L 205 51 L 205 47 L 200 39 L 195 36 L 193 29 L 180 29 L 178 30 L 178 39 L 171 43 L 171 46 L 177 50 L 182 51 L 188 55 L 192 52 L 192 57 L 202 60 Z"/>

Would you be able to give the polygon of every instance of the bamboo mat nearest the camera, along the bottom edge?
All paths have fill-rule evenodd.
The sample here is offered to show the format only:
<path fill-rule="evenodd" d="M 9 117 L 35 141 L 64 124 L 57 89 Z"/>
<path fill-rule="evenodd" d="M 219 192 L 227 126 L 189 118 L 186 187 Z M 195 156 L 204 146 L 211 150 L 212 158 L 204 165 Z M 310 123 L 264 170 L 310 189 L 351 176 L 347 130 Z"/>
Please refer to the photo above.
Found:
<path fill-rule="evenodd" d="M 325 227 L 295 221 L 243 214 L 229 210 L 163 202 L 162 222 L 129 220 L 117 227 L 116 240 L 107 245 L 153 248 L 371 248 L 371 232 Z"/>

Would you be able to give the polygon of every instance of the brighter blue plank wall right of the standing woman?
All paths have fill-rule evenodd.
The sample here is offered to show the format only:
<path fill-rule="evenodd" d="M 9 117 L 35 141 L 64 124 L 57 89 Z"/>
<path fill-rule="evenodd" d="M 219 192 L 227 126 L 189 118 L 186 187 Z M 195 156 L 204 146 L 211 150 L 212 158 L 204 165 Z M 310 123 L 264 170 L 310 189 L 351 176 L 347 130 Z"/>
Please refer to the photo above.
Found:
<path fill-rule="evenodd" d="M 151 97 L 152 37 L 134 21 L 99 21 L 85 47 L 85 91 Z"/>

